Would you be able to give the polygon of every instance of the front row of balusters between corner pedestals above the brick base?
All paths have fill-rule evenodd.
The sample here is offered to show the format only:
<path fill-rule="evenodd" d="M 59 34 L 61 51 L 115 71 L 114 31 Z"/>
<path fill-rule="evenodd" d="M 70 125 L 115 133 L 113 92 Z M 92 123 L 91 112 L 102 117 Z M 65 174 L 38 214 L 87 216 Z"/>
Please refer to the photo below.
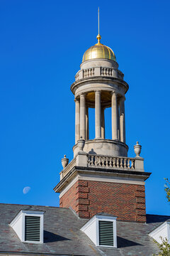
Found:
<path fill-rule="evenodd" d="M 103 167 L 111 169 L 135 169 L 135 159 L 128 157 L 108 157 L 88 155 L 89 167 Z"/>

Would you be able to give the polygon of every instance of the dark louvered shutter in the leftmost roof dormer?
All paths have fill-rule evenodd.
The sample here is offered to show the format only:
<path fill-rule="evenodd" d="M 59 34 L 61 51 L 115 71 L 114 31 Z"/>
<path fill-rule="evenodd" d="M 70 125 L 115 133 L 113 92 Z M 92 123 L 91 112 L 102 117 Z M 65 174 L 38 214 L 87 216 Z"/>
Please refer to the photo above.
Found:
<path fill-rule="evenodd" d="M 40 242 L 40 217 L 25 217 L 25 241 Z"/>

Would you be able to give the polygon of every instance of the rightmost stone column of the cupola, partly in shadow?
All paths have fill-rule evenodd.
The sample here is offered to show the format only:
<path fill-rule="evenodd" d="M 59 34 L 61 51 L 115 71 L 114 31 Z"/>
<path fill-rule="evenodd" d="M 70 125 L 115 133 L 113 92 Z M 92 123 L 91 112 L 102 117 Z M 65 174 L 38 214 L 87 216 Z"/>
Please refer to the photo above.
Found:
<path fill-rule="evenodd" d="M 125 97 L 120 99 L 120 141 L 125 143 Z"/>

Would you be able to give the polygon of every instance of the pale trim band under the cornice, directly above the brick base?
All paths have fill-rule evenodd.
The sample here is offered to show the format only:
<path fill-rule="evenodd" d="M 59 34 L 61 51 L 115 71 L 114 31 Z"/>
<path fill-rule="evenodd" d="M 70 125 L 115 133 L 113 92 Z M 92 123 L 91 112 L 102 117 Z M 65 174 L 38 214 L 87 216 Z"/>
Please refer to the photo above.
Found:
<path fill-rule="evenodd" d="M 114 176 L 112 178 L 111 176 L 96 176 L 96 175 L 90 175 L 90 174 L 77 174 L 77 176 L 72 180 L 69 185 L 63 189 L 63 191 L 60 193 L 59 198 L 62 198 L 64 196 L 64 193 L 66 193 L 69 188 L 71 188 L 77 181 L 99 181 L 99 182 L 111 182 L 111 183 L 123 183 L 123 184 L 133 184 L 133 185 L 144 185 L 145 181 L 140 181 L 140 179 L 133 179 L 131 180 L 129 178 L 117 178 Z"/>

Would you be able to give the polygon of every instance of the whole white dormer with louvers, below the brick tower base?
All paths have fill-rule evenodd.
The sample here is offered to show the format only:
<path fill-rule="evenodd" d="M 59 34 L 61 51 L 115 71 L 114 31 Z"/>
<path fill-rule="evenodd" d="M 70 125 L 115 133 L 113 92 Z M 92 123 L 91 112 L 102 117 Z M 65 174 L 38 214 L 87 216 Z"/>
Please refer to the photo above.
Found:
<path fill-rule="evenodd" d="M 96 246 L 117 247 L 116 218 L 113 215 L 99 213 L 91 218 L 81 230 Z"/>

